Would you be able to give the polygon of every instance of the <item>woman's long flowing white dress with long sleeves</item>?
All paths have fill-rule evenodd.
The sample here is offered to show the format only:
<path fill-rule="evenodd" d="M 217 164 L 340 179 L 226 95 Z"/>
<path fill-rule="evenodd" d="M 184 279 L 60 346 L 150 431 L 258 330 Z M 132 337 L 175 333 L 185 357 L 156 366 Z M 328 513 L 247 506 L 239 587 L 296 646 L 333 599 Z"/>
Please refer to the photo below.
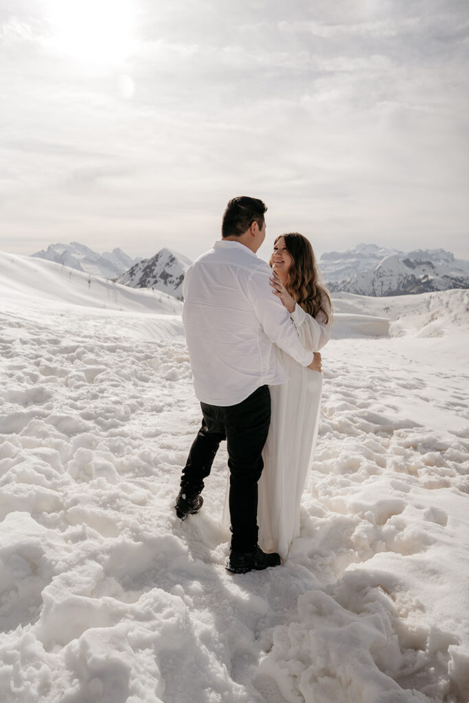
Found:
<path fill-rule="evenodd" d="M 322 311 L 316 318 L 298 304 L 290 315 L 304 347 L 319 352 L 330 340 L 332 314 Z M 278 552 L 282 559 L 300 534 L 300 501 L 311 464 L 319 427 L 323 377 L 301 366 L 276 347 L 287 381 L 270 386 L 272 400 L 269 435 L 262 452 L 264 470 L 259 480 L 259 546 Z M 223 522 L 229 526 L 228 491 Z"/>

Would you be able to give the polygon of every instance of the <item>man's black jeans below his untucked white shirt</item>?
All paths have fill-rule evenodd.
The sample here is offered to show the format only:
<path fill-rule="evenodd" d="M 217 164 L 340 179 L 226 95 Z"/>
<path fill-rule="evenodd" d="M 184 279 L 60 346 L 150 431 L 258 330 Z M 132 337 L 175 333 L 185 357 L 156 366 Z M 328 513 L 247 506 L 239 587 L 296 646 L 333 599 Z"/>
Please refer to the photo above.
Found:
<path fill-rule="evenodd" d="M 226 439 L 230 469 L 231 549 L 251 552 L 257 544 L 257 482 L 264 462 L 262 449 L 269 432 L 271 401 L 268 386 L 257 388 L 237 405 L 200 403 L 202 426 L 193 441 L 182 472 L 181 488 L 188 494 L 200 493 L 203 479 Z"/>

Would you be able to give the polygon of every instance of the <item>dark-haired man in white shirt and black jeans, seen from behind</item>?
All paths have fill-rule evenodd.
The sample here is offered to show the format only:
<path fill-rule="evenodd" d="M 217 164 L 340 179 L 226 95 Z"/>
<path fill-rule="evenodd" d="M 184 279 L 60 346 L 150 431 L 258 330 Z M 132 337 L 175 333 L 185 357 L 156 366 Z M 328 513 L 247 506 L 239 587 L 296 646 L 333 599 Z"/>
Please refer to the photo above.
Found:
<path fill-rule="evenodd" d="M 200 510 L 204 479 L 227 441 L 231 551 L 237 574 L 280 564 L 257 545 L 257 482 L 271 416 L 269 385 L 285 382 L 273 344 L 303 366 L 318 369 L 300 342 L 281 301 L 272 294 L 271 269 L 256 252 L 264 242 L 266 206 L 241 196 L 226 206 L 221 241 L 186 272 L 183 323 L 195 395 L 203 420 L 189 452 L 176 498 L 181 520 Z"/>

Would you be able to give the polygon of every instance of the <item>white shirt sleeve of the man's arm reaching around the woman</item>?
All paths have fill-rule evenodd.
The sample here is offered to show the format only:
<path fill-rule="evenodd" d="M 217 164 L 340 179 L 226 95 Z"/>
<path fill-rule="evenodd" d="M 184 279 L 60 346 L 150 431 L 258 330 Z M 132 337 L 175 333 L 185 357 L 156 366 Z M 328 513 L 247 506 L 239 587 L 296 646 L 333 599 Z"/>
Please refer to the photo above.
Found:
<path fill-rule="evenodd" d="M 305 349 L 293 321 L 281 300 L 273 295 L 269 283 L 270 268 L 259 266 L 248 281 L 247 295 L 269 340 L 302 366 L 309 366 L 314 359 L 314 350 Z"/>

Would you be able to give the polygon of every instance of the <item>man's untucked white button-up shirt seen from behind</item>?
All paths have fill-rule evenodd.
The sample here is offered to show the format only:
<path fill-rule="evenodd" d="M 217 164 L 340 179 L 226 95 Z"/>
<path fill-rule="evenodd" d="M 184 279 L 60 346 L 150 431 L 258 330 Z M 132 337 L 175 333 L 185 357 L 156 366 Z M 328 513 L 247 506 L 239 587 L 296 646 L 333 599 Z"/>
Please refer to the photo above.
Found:
<path fill-rule="evenodd" d="M 313 361 L 270 276 L 269 264 L 232 240 L 215 242 L 186 271 L 182 319 L 203 403 L 236 405 L 259 386 L 285 382 L 273 343 L 302 366 Z"/>

